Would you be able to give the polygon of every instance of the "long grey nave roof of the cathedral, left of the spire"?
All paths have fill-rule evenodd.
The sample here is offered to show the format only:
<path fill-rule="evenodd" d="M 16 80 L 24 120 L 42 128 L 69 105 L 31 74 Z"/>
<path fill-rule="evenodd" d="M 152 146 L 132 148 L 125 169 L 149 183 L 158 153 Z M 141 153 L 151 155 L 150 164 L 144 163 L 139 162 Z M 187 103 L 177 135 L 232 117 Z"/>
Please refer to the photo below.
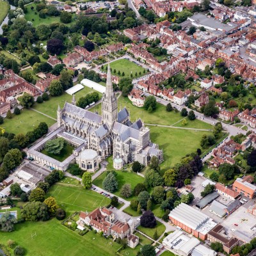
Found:
<path fill-rule="evenodd" d="M 74 106 L 68 102 L 65 103 L 63 110 L 72 113 L 73 115 L 79 116 L 80 118 L 95 122 L 96 124 L 101 123 L 102 117 L 100 115 L 87 111 L 86 109 Z"/>

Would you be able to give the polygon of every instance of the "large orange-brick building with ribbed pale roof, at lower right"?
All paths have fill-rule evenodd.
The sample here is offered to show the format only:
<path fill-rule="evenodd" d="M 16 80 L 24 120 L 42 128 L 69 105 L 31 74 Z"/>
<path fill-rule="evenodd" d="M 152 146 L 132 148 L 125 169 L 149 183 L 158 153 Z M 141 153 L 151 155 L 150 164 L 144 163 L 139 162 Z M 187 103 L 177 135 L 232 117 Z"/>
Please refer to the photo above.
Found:
<path fill-rule="evenodd" d="M 170 212 L 169 219 L 174 225 L 202 240 L 205 240 L 207 233 L 217 225 L 207 215 L 184 203 Z"/>

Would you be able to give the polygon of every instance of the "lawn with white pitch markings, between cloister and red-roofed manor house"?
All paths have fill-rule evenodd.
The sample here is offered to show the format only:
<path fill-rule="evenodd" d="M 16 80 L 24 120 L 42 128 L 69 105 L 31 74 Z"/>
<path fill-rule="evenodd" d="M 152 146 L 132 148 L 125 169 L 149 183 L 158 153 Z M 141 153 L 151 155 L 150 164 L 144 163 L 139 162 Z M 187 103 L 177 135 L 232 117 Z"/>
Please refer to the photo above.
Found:
<path fill-rule="evenodd" d="M 75 211 L 91 212 L 97 207 L 103 207 L 110 203 L 106 196 L 90 189 L 84 189 L 83 186 L 56 184 L 51 187 L 47 196 L 54 196 L 58 205 L 65 209 L 68 214 Z"/>

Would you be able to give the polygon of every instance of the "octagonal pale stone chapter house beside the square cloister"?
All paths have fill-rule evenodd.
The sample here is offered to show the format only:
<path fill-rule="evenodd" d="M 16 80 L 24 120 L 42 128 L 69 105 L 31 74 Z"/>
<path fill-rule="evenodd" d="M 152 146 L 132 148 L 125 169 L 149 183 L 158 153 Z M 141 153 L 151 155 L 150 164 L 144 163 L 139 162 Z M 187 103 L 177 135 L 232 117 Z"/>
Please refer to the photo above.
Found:
<path fill-rule="evenodd" d="M 76 162 L 82 170 L 95 172 L 99 168 L 100 157 L 92 149 L 85 149 L 76 157 Z"/>

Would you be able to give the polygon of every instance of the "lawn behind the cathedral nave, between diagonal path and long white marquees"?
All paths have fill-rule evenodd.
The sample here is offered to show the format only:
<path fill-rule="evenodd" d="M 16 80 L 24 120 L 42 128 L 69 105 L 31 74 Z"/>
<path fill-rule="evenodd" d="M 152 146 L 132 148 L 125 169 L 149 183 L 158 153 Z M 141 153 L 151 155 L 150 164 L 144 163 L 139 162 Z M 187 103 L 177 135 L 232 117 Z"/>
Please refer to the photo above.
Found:
<path fill-rule="evenodd" d="M 95 92 L 95 90 L 92 90 L 92 88 L 88 88 L 84 86 L 82 90 L 75 93 L 76 100 L 78 101 L 79 98 L 84 97 L 87 93 Z M 100 98 L 102 97 L 101 93 L 99 93 Z M 52 118 L 57 118 L 57 109 L 58 105 L 60 104 L 60 108 L 63 108 L 65 102 L 71 102 L 72 101 L 72 95 L 69 95 L 68 93 L 64 92 L 62 95 L 58 97 L 50 97 L 49 100 L 45 101 L 44 103 L 36 103 L 33 106 L 33 109 L 36 109 L 37 111 L 40 111 L 46 115 L 52 116 Z M 101 104 L 100 108 L 101 108 Z"/>

